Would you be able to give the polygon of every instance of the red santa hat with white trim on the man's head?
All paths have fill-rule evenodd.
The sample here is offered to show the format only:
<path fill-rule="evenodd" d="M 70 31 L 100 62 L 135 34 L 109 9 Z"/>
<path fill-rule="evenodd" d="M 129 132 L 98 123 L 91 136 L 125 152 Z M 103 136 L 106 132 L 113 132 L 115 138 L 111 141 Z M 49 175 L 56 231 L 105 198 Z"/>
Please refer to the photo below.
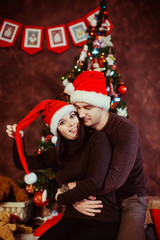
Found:
<path fill-rule="evenodd" d="M 93 106 L 110 108 L 110 97 L 107 94 L 106 79 L 102 72 L 85 71 L 69 83 L 65 80 L 65 93 L 70 95 L 70 102 L 85 102 Z"/>

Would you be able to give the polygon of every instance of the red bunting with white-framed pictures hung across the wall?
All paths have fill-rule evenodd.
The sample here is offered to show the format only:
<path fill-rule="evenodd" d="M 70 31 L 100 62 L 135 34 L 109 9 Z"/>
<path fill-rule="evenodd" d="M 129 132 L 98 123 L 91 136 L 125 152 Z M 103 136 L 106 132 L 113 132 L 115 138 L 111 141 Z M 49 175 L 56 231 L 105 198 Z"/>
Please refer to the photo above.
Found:
<path fill-rule="evenodd" d="M 0 26 L 0 47 L 13 47 L 23 27 L 21 49 L 33 55 L 42 51 L 44 32 L 49 51 L 61 54 L 69 48 L 68 33 L 74 46 L 82 47 L 87 41 L 87 27 L 93 26 L 95 15 L 99 13 L 99 7 L 86 14 L 84 17 L 58 26 L 23 26 L 19 22 L 3 19 Z M 107 28 L 110 31 L 112 24 L 107 20 Z M 108 31 L 108 32 L 109 32 Z"/>

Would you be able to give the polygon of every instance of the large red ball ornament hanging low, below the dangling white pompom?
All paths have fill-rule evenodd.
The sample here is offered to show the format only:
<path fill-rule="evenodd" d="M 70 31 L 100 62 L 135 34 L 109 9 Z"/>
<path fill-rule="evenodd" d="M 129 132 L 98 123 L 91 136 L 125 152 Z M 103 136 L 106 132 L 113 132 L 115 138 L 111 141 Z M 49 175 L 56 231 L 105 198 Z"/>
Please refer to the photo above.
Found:
<path fill-rule="evenodd" d="M 47 196 L 47 190 L 40 190 L 34 194 L 33 202 L 40 207 L 43 207 L 48 204 L 49 198 Z"/>

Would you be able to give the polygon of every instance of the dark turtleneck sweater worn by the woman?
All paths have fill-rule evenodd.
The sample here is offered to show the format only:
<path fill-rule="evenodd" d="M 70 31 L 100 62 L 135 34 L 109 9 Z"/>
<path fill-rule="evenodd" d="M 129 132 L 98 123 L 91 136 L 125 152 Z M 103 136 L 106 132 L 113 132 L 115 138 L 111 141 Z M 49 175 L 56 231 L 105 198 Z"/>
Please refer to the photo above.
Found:
<path fill-rule="evenodd" d="M 63 164 L 57 162 L 55 147 L 34 156 L 27 156 L 29 170 L 52 168 L 59 186 L 62 184 L 78 181 L 77 186 L 60 194 L 58 202 L 66 205 L 65 214 L 69 217 L 89 218 L 105 222 L 115 222 L 119 219 L 119 211 L 116 204 L 115 193 L 99 195 L 109 168 L 112 149 L 106 135 L 102 132 L 87 132 L 81 148 L 73 147 L 74 141 L 68 141 L 67 152 L 63 157 Z M 22 169 L 16 144 L 13 148 L 15 165 Z M 72 204 L 89 196 L 96 196 L 103 202 L 101 213 L 95 217 L 89 217 L 76 211 Z"/>

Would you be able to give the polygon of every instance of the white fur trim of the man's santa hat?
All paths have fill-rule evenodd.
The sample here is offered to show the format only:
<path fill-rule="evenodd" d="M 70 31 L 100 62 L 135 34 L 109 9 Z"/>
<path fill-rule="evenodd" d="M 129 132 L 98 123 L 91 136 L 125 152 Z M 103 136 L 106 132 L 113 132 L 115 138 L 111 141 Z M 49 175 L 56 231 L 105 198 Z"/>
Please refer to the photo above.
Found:
<path fill-rule="evenodd" d="M 71 103 L 85 102 L 96 107 L 108 110 L 110 108 L 110 97 L 102 93 L 87 92 L 87 91 L 74 91 L 71 94 Z"/>

